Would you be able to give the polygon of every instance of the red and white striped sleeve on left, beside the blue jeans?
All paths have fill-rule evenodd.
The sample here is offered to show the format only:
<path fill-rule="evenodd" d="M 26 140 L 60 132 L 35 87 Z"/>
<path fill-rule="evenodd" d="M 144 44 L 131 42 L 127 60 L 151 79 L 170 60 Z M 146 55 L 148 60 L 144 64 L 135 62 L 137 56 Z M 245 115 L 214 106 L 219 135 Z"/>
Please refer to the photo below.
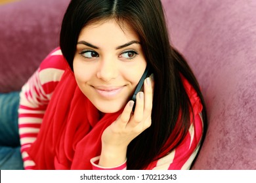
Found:
<path fill-rule="evenodd" d="M 60 49 L 57 48 L 43 60 L 39 69 L 22 87 L 18 109 L 18 127 L 24 169 L 35 167 L 27 150 L 37 138 L 51 95 L 67 66 Z"/>

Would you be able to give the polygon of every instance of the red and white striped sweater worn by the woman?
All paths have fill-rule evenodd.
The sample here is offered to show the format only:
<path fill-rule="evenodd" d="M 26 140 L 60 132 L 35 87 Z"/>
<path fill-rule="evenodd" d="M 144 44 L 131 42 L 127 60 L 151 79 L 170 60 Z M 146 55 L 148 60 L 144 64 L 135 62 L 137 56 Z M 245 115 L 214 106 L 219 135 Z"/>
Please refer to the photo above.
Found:
<path fill-rule="evenodd" d="M 37 139 L 47 105 L 66 67 L 69 67 L 68 63 L 66 63 L 60 49 L 56 48 L 43 60 L 39 69 L 22 87 L 18 109 L 18 125 L 24 169 L 35 168 L 35 163 L 28 156 L 27 151 Z M 190 86 L 188 83 L 186 85 Z M 175 150 L 155 161 L 152 169 L 190 169 L 191 163 L 198 153 L 203 130 L 200 116 L 202 105 L 198 99 L 199 97 L 190 88 L 186 88 L 186 91 L 192 106 L 197 108 L 199 106 L 201 109 L 194 110 L 194 123 L 191 123 L 182 143 Z M 93 169 L 106 169 L 97 165 L 98 159 L 99 157 L 91 159 Z M 126 169 L 126 162 L 110 169 Z"/>

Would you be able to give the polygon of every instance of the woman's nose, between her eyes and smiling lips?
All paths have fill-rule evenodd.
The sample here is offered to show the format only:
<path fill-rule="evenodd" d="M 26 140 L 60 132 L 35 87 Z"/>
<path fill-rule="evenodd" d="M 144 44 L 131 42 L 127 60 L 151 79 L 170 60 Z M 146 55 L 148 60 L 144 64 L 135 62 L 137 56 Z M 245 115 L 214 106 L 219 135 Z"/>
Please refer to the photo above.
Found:
<path fill-rule="evenodd" d="M 118 65 L 113 58 L 105 58 L 100 60 L 97 71 L 97 77 L 109 82 L 118 75 Z"/>

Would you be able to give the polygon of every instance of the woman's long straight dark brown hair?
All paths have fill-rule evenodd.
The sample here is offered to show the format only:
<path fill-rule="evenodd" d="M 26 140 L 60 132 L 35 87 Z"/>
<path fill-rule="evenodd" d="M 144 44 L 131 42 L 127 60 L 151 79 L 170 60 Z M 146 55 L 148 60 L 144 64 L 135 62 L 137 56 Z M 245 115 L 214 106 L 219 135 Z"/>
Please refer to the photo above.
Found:
<path fill-rule="evenodd" d="M 127 150 L 127 169 L 144 169 L 156 157 L 160 158 L 159 154 L 165 150 L 163 145 L 170 136 L 173 141 L 168 141 L 167 145 L 173 150 L 188 133 L 192 107 L 181 75 L 202 101 L 203 139 L 207 127 L 205 103 L 188 63 L 169 42 L 160 0 L 72 0 L 60 32 L 60 48 L 72 69 L 81 29 L 93 22 L 113 18 L 119 24 L 131 25 L 139 35 L 147 64 L 154 73 L 152 125 L 135 138 Z"/>

